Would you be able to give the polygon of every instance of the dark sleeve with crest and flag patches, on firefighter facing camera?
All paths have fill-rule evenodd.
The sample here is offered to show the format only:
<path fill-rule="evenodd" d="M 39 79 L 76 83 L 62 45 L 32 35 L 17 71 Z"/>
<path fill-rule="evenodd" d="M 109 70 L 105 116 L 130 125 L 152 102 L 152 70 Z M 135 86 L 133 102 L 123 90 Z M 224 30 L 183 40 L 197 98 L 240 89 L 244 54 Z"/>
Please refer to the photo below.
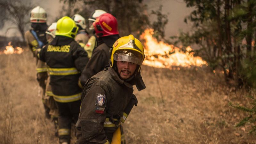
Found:
<path fill-rule="evenodd" d="M 77 144 L 107 142 L 104 122 L 108 95 L 108 92 L 96 84 L 92 85 L 89 90 L 88 87 L 83 89 L 84 100 L 82 100 L 79 119 L 76 123 L 76 129 L 80 131 L 80 134 L 77 135 Z M 100 100 L 101 102 L 99 102 Z"/>

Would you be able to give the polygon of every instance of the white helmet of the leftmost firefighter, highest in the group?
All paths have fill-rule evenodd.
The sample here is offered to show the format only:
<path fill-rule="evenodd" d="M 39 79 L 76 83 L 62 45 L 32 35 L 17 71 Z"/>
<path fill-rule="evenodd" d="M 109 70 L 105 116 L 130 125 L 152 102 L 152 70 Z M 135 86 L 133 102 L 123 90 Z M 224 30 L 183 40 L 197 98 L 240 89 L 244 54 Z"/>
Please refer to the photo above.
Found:
<path fill-rule="evenodd" d="M 47 20 L 47 14 L 42 7 L 37 6 L 30 12 L 30 22 L 44 23 L 46 22 L 46 20 Z"/>

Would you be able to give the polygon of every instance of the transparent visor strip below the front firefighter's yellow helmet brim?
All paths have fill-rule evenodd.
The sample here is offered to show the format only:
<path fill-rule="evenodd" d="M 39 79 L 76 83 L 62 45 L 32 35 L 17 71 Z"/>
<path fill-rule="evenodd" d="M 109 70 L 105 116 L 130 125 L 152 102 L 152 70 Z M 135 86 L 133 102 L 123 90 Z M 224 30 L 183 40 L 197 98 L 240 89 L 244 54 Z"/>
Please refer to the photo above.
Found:
<path fill-rule="evenodd" d="M 131 52 L 129 52 L 131 53 Z M 130 56 L 130 55 L 123 55 L 123 54 L 114 54 L 114 60 L 116 61 L 127 61 L 127 62 L 132 62 L 135 63 L 137 65 L 142 65 L 143 60 Z"/>

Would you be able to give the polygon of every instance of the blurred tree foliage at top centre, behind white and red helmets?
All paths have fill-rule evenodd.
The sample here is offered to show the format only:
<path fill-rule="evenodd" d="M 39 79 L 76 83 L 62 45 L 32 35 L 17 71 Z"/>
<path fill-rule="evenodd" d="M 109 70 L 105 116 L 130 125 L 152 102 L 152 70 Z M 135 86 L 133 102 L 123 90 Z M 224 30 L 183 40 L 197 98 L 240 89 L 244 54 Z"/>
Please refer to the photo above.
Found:
<path fill-rule="evenodd" d="M 149 26 L 146 5 L 142 0 L 62 0 L 69 5 L 71 13 L 81 14 L 88 18 L 94 10 L 101 9 L 111 13 L 118 20 L 118 30 L 120 36 L 133 34 L 138 36 L 145 28 Z M 79 4 L 79 6 L 77 6 Z"/>

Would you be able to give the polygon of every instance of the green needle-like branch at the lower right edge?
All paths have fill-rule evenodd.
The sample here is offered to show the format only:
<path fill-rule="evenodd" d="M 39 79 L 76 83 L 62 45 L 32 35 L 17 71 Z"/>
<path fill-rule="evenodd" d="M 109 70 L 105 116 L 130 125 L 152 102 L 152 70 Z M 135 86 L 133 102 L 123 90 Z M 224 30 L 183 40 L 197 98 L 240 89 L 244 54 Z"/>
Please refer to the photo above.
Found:
<path fill-rule="evenodd" d="M 248 114 L 247 117 L 244 117 L 238 124 L 236 124 L 236 127 L 244 126 L 245 124 L 251 124 L 252 127 L 250 133 L 256 134 L 256 99 L 255 96 L 253 97 L 251 95 L 248 95 L 247 97 L 249 97 L 252 100 L 252 108 L 247 108 L 240 105 L 233 105 L 231 102 L 229 103 L 229 105 L 239 110 L 242 110 Z"/>

